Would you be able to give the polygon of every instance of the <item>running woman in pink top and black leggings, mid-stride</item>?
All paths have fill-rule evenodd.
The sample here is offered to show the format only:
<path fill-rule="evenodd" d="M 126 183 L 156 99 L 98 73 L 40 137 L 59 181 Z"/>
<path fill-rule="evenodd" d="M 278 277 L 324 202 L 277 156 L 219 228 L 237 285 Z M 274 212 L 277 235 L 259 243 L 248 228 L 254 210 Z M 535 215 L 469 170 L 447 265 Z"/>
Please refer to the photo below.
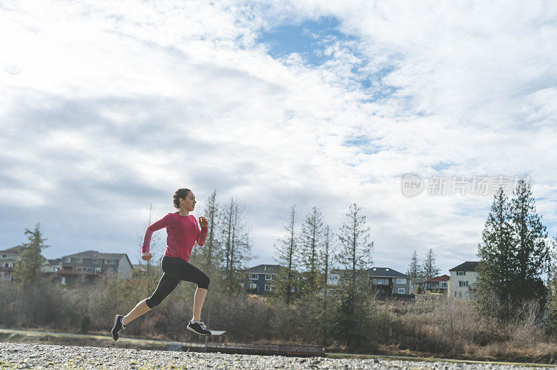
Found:
<path fill-rule="evenodd" d="M 197 242 L 198 246 L 203 246 L 205 243 L 209 225 L 207 219 L 200 216 L 201 231 L 199 230 L 195 216 L 189 214 L 189 212 L 194 211 L 195 206 L 196 197 L 194 193 L 187 188 L 178 189 L 174 193 L 174 207 L 178 209 L 178 212 L 167 214 L 147 228 L 145 239 L 143 239 L 143 252 L 141 253 L 141 258 L 145 261 L 152 258 L 152 254 L 149 252 L 152 233 L 166 227 L 166 234 L 168 234 L 166 251 L 161 259 L 163 274 L 155 293 L 138 303 L 127 315 L 116 315 L 111 330 L 112 339 L 115 341 L 118 340 L 120 330 L 125 329 L 128 323 L 159 305 L 178 286 L 180 280 L 197 284 L 194 296 L 194 314 L 186 326 L 187 330 L 191 330 L 198 335 L 211 335 L 211 332 L 201 321 L 201 307 L 203 307 L 205 295 L 209 288 L 209 278 L 203 271 L 188 263 L 194 243 Z"/>

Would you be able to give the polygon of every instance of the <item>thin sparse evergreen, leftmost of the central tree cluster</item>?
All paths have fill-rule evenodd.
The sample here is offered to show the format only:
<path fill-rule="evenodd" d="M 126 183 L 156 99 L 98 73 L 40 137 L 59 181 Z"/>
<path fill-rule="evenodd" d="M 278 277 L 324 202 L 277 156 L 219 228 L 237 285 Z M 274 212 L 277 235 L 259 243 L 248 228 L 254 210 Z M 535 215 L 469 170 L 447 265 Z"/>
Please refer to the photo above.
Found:
<path fill-rule="evenodd" d="M 283 266 L 276 277 L 274 288 L 278 296 L 285 299 L 286 304 L 292 302 L 293 290 L 297 287 L 297 273 L 294 270 L 298 244 L 296 236 L 296 205 L 290 207 L 290 218 L 284 226 L 285 236 L 274 243 L 275 257 L 278 264 Z"/>

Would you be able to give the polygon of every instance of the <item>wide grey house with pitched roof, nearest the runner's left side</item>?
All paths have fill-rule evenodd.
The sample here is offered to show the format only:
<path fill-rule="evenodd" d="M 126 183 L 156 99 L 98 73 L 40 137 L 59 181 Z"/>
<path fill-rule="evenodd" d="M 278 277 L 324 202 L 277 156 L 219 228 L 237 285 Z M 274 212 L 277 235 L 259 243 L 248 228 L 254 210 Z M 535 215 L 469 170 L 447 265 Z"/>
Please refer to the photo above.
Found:
<path fill-rule="evenodd" d="M 100 275 L 130 279 L 132 269 L 132 263 L 125 253 L 87 250 L 62 257 L 58 275 L 61 284 L 71 284 L 77 280 L 92 282 Z"/>

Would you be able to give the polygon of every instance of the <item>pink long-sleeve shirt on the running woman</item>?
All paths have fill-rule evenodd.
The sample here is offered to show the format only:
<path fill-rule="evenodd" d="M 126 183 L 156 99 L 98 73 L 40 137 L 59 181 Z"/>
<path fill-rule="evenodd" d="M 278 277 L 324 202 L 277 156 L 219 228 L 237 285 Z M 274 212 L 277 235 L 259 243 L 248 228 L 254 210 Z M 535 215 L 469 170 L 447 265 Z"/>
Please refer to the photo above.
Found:
<path fill-rule="evenodd" d="M 207 227 L 197 225 L 194 215 L 181 216 L 178 212 L 167 214 L 156 223 L 150 225 L 143 239 L 143 253 L 149 252 L 152 233 L 166 227 L 166 250 L 165 256 L 178 257 L 185 262 L 189 261 L 191 249 L 197 242 L 198 246 L 205 244 L 207 238 Z"/>

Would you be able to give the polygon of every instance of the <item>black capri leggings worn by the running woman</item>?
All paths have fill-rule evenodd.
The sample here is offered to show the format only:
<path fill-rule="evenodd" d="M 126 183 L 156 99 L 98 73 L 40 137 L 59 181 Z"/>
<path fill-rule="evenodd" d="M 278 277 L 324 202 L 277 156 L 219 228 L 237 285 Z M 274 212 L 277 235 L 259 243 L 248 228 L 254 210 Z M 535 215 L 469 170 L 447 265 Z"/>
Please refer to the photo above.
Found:
<path fill-rule="evenodd" d="M 161 267 L 164 273 L 157 289 L 146 300 L 149 308 L 159 305 L 178 286 L 180 280 L 194 282 L 199 288 L 209 289 L 209 277 L 199 268 L 188 264 L 181 258 L 164 256 L 161 260 Z"/>

